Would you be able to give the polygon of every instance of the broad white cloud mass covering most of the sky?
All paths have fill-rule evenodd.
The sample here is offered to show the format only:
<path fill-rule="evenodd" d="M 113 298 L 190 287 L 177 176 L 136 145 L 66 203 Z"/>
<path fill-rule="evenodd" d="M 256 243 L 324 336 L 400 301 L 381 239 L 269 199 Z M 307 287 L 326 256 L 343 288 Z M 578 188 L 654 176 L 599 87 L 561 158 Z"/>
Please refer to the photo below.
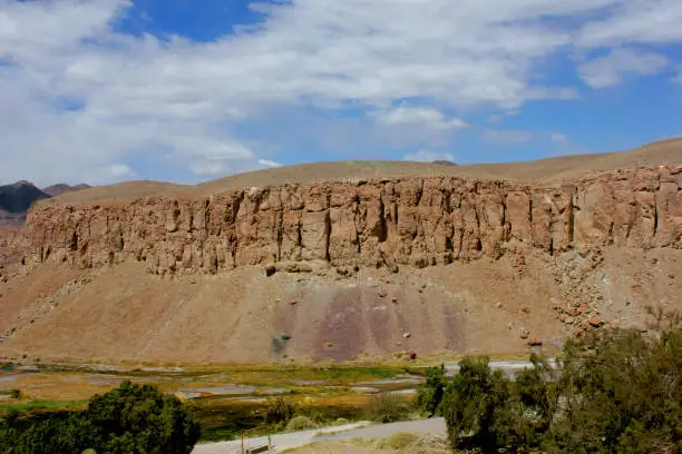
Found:
<path fill-rule="evenodd" d="M 134 162 L 150 149 L 197 177 L 243 171 L 263 164 L 240 127 L 308 107 L 378 112 L 359 121 L 409 130 L 384 144 L 430 144 L 466 127 L 458 112 L 575 98 L 534 71 L 558 50 L 682 40 L 679 0 L 291 0 L 211 42 L 124 34 L 113 24 L 130 6 L 0 0 L 0 181 L 76 182 L 111 162 L 144 177 Z M 616 78 L 646 75 L 616 62 Z M 613 83 L 613 59 L 590 63 L 592 83 Z M 392 107 L 406 99 L 420 107 Z"/>

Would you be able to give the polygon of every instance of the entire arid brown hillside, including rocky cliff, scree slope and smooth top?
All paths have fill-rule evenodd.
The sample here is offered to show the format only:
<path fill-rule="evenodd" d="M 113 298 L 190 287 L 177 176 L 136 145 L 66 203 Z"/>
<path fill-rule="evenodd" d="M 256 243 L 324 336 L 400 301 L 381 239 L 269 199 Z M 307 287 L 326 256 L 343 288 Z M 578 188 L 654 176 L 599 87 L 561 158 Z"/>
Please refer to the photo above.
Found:
<path fill-rule="evenodd" d="M 3 246 L 21 257 L 0 269 L 0 355 L 510 355 L 645 328 L 682 310 L 681 186 L 676 140 L 504 166 L 318 164 L 72 193 L 33 207 Z"/>

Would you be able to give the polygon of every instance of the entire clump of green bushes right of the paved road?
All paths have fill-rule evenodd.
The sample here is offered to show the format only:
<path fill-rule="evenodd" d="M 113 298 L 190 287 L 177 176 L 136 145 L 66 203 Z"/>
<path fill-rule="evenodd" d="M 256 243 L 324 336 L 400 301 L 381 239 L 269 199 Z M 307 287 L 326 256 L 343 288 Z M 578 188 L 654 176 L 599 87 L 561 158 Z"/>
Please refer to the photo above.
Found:
<path fill-rule="evenodd" d="M 515 383 L 465 358 L 440 404 L 450 443 L 483 452 L 682 452 L 682 330 L 568 342 L 561 373 L 533 355 Z"/>

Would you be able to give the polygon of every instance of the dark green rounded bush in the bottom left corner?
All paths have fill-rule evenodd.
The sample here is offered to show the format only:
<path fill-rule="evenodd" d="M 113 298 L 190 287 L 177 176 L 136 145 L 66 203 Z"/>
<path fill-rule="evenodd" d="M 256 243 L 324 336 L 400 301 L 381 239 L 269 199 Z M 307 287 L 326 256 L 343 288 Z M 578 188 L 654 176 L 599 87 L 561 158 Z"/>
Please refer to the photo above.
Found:
<path fill-rule="evenodd" d="M 12 415 L 0 426 L 0 452 L 189 454 L 201 426 L 175 396 L 150 385 L 124 382 L 118 388 L 96 395 L 88 408 L 48 418 Z"/>

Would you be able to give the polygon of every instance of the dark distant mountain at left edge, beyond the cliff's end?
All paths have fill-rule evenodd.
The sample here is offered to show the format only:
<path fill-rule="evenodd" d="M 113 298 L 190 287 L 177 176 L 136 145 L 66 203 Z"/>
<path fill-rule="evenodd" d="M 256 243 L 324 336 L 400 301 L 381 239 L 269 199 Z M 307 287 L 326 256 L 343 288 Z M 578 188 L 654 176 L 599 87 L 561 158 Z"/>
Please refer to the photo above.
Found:
<path fill-rule="evenodd" d="M 32 182 L 26 180 L 0 186 L 0 226 L 23 224 L 26 213 L 36 200 L 87 188 L 89 188 L 88 185 L 53 185 L 41 190 Z"/>

